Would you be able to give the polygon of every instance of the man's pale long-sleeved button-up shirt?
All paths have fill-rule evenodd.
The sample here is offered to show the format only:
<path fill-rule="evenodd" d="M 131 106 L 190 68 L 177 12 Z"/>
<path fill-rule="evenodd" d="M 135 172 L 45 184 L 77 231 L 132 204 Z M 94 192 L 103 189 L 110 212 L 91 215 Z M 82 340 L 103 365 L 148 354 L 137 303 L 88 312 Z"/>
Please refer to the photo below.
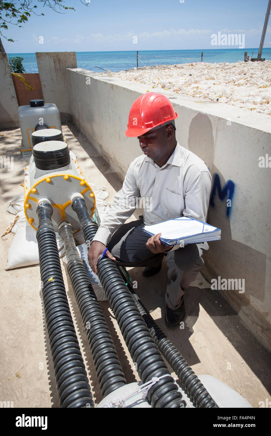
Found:
<path fill-rule="evenodd" d="M 178 142 L 163 167 L 143 154 L 130 164 L 122 189 L 114 196 L 93 240 L 107 245 L 111 235 L 138 207 L 140 198 L 145 225 L 182 216 L 206 221 L 211 185 L 205 162 Z M 172 250 L 179 247 L 174 245 Z"/>

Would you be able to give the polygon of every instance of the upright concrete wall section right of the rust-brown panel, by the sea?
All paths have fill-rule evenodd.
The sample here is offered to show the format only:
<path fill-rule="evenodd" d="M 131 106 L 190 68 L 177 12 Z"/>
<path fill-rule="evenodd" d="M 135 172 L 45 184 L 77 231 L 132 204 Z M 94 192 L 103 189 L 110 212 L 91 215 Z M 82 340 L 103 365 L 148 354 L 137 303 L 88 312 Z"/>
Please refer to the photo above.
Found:
<path fill-rule="evenodd" d="M 75 51 L 36 53 L 45 103 L 54 103 L 62 121 L 70 119 L 66 68 L 76 68 Z"/>

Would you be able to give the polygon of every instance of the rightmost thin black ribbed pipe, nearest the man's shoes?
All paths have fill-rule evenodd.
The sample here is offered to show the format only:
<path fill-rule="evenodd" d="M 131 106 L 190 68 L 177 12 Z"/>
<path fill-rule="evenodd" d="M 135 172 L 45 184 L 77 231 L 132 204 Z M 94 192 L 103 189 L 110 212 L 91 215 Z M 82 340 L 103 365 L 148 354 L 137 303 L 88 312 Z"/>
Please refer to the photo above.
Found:
<path fill-rule="evenodd" d="M 204 388 L 204 385 L 197 378 L 192 368 L 188 365 L 187 361 L 181 355 L 180 351 L 172 344 L 168 337 L 164 334 L 163 330 L 157 326 L 150 313 L 144 307 L 133 288 L 128 284 L 130 293 L 134 298 L 138 310 L 140 311 L 147 327 L 151 332 L 151 336 L 158 349 L 163 354 L 164 358 L 171 365 L 175 374 L 184 386 L 186 393 L 190 396 L 197 408 L 218 408 L 216 402 L 212 399 L 211 395 Z"/>

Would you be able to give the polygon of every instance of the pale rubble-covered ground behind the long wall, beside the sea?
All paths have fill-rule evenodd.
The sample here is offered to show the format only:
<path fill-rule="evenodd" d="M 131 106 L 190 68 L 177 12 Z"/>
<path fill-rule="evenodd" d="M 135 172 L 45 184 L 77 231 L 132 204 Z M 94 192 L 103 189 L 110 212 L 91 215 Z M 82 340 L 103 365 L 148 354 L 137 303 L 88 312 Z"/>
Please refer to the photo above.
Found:
<path fill-rule="evenodd" d="M 144 61 L 146 64 L 147 61 Z M 169 89 L 197 99 L 228 103 L 271 115 L 271 61 L 155 65 L 110 72 L 121 79 L 145 83 L 146 92 Z"/>

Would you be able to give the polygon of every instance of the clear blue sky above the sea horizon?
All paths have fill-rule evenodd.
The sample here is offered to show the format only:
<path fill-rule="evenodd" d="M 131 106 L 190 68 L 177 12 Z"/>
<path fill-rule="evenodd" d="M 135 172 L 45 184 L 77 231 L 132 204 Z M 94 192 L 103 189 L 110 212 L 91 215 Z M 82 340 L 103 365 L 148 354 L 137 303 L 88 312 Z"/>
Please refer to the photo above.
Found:
<path fill-rule="evenodd" d="M 39 3 L 33 0 L 33 4 Z M 268 0 L 90 0 L 88 6 L 65 0 L 64 4 L 75 11 L 57 14 L 39 6 L 37 11 L 45 17 L 33 14 L 21 28 L 10 25 L 4 34 L 16 41 L 1 38 L 7 53 L 238 48 L 211 45 L 211 35 L 219 31 L 244 34 L 244 48 L 254 48 L 260 43 Z M 271 42 L 271 19 L 265 42 Z"/>

